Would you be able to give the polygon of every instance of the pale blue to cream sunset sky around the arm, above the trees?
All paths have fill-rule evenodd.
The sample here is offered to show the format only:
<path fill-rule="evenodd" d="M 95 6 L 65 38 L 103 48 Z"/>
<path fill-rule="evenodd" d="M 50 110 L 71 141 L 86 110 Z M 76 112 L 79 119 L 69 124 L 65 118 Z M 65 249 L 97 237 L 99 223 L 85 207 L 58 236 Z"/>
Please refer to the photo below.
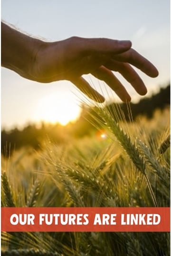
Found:
<path fill-rule="evenodd" d="M 159 70 L 149 78 L 138 70 L 148 89 L 147 96 L 170 81 L 169 0 L 1 0 L 1 19 L 33 37 L 57 41 L 71 36 L 129 39 Z M 85 75 L 106 100 L 118 97 L 102 81 Z M 137 95 L 120 74 L 117 77 L 130 93 Z M 1 126 L 22 128 L 29 122 L 59 121 L 66 124 L 80 112 L 83 98 L 69 81 L 42 84 L 1 68 Z"/>

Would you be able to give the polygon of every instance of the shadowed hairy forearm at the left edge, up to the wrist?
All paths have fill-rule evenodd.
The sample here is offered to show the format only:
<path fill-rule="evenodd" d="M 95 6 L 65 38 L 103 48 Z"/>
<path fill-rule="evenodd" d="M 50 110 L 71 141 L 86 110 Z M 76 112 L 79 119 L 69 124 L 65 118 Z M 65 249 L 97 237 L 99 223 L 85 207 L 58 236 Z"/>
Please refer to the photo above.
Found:
<path fill-rule="evenodd" d="M 31 67 L 42 41 L 31 38 L 1 22 L 1 66 L 31 79 Z"/>

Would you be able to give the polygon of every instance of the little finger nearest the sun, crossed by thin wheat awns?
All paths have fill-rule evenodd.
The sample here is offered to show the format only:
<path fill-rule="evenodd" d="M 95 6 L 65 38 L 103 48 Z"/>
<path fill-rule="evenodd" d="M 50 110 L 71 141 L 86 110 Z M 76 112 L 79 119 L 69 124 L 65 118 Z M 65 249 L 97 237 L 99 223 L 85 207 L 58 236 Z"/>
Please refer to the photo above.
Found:
<path fill-rule="evenodd" d="M 70 79 L 70 81 L 76 85 L 88 98 L 95 100 L 96 102 L 103 103 L 104 97 L 93 89 L 89 83 L 82 77 Z"/>

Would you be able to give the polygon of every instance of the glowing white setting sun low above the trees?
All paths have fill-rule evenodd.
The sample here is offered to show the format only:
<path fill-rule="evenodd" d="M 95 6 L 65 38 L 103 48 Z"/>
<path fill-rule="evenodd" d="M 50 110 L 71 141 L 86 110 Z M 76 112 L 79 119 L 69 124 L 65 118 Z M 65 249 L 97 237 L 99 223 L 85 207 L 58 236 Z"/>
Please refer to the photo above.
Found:
<path fill-rule="evenodd" d="M 49 94 L 38 101 L 34 119 L 66 125 L 68 122 L 76 120 L 79 114 L 80 107 L 69 95 L 65 94 L 65 97 L 62 97 Z"/>

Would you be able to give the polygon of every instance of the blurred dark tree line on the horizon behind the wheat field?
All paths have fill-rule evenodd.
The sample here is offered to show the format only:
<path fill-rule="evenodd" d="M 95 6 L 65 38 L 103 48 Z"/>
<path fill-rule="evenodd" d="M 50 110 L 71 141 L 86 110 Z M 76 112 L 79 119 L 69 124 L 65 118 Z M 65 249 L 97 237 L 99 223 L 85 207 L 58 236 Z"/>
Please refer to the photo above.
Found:
<path fill-rule="evenodd" d="M 133 120 L 139 115 L 145 115 L 147 118 L 152 118 L 153 112 L 158 109 L 164 109 L 170 105 L 170 85 L 166 88 L 161 88 L 160 92 L 152 95 L 151 98 L 143 98 L 138 103 L 130 103 Z M 108 108 L 114 115 L 114 109 L 121 108 L 125 119 L 130 120 L 128 106 L 125 103 L 111 103 L 105 108 Z M 118 110 L 119 111 L 119 110 Z M 14 149 L 22 147 L 41 148 L 42 142 L 50 140 L 53 143 L 66 143 L 70 138 L 78 138 L 90 135 L 95 127 L 92 125 L 89 114 L 94 113 L 93 108 L 83 108 L 80 117 L 75 123 L 69 123 L 65 127 L 60 124 L 45 124 L 37 127 L 35 124 L 30 124 L 19 130 L 14 128 L 10 131 L 3 129 L 1 131 L 1 153 L 9 156 Z M 100 118 L 100 117 L 98 117 Z"/>

